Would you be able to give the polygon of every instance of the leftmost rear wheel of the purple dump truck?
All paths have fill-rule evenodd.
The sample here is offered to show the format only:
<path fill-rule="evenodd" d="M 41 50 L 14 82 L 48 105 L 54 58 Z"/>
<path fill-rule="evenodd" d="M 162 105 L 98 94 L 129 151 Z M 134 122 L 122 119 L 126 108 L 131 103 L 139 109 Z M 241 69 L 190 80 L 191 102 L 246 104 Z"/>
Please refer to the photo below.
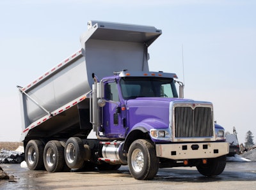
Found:
<path fill-rule="evenodd" d="M 25 149 L 25 160 L 29 170 L 44 170 L 44 143 L 40 140 L 29 140 Z"/>

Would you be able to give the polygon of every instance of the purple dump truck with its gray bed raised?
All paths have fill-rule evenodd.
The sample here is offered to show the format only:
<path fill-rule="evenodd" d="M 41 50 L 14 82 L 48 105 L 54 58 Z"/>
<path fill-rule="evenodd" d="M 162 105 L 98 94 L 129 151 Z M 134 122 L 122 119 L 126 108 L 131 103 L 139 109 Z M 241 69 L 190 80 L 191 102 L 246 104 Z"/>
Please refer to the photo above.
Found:
<path fill-rule="evenodd" d="M 128 164 L 142 180 L 167 167 L 223 172 L 229 145 L 212 103 L 184 99 L 177 75 L 148 69 L 148 47 L 160 35 L 152 26 L 89 21 L 80 50 L 18 86 L 30 170 Z"/>

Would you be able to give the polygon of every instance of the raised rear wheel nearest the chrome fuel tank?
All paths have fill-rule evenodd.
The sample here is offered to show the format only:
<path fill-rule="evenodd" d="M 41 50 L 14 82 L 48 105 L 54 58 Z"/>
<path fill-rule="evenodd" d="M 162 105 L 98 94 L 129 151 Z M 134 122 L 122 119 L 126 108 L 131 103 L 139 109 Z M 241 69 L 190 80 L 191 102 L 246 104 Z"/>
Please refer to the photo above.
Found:
<path fill-rule="evenodd" d="M 71 169 L 82 168 L 84 163 L 84 146 L 81 138 L 70 137 L 65 145 L 65 161 Z"/>

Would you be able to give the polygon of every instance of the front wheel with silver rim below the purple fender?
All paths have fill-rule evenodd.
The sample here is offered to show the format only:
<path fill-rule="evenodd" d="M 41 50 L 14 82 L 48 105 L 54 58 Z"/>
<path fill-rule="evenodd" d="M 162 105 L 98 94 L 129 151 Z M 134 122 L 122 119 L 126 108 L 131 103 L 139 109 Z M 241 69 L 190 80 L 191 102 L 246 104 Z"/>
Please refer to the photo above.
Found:
<path fill-rule="evenodd" d="M 134 179 L 153 179 L 159 168 L 154 145 L 148 140 L 135 140 L 129 148 L 128 164 Z"/>

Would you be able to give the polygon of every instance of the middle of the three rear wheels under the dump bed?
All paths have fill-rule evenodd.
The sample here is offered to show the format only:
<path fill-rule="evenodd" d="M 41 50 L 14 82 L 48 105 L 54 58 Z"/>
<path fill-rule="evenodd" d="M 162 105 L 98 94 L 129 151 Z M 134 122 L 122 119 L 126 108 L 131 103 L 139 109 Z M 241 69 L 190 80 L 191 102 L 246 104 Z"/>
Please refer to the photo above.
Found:
<path fill-rule="evenodd" d="M 47 142 L 44 148 L 44 166 L 48 172 L 61 172 L 65 164 L 64 148 L 58 140 Z"/>

